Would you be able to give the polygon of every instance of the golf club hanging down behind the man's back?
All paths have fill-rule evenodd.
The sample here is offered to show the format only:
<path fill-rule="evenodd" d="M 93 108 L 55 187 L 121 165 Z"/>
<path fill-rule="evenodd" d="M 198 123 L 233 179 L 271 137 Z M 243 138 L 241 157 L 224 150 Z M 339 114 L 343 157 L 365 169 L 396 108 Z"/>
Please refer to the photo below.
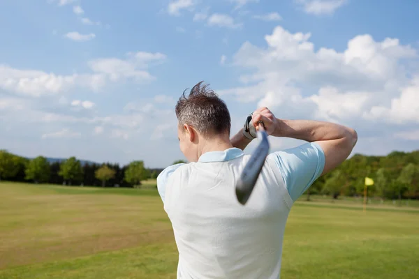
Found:
<path fill-rule="evenodd" d="M 263 164 L 267 154 L 269 153 L 270 144 L 267 140 L 267 133 L 265 126 L 262 121 L 258 121 L 259 130 L 257 132 L 258 140 L 260 143 L 256 149 L 251 153 L 249 162 L 244 166 L 242 174 L 235 186 L 236 197 L 240 204 L 246 204 L 249 199 L 251 192 L 258 181 L 260 171 L 262 170 Z"/>

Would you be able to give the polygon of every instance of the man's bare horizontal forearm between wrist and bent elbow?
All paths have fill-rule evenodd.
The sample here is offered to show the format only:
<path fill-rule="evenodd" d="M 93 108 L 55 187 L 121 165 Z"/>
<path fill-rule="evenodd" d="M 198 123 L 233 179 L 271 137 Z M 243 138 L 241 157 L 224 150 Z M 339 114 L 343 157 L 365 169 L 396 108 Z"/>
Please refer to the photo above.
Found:
<path fill-rule="evenodd" d="M 351 128 L 336 123 L 311 120 L 278 119 L 277 128 L 272 135 L 274 137 L 292 137 L 307 142 L 338 140 L 345 137 L 356 141 L 355 130 Z"/>

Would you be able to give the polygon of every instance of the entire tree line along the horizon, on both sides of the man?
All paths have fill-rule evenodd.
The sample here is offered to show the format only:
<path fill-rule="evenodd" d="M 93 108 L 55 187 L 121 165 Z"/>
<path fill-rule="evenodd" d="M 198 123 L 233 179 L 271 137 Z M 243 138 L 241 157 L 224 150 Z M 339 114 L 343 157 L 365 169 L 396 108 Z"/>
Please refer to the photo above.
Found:
<path fill-rule="evenodd" d="M 176 163 L 185 163 L 182 160 Z M 0 179 L 85 186 L 139 186 L 145 179 L 155 179 L 162 169 L 147 169 L 138 160 L 118 164 L 80 163 L 75 157 L 61 163 L 49 163 L 39 156 L 27 159 L 0 151 Z M 362 196 L 365 177 L 374 180 L 367 188 L 369 197 L 381 199 L 419 199 L 419 150 L 394 151 L 387 156 L 355 154 L 332 172 L 321 176 L 307 190 L 310 195 Z"/>

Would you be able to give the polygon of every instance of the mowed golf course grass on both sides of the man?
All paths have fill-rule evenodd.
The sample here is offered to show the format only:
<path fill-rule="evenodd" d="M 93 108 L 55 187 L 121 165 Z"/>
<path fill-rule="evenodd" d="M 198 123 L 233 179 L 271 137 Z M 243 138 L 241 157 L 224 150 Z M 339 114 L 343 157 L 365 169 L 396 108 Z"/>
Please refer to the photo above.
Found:
<path fill-rule="evenodd" d="M 155 188 L 0 183 L 0 278 L 176 278 L 176 267 Z M 419 278 L 419 211 L 297 202 L 281 276 Z"/>

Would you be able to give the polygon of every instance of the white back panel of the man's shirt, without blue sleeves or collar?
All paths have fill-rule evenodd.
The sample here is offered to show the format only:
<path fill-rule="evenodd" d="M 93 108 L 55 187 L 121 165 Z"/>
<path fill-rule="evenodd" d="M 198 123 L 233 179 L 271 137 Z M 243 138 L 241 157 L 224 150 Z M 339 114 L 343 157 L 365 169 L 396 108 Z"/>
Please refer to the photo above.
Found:
<path fill-rule="evenodd" d="M 191 163 L 170 177 L 164 209 L 179 249 L 178 278 L 278 278 L 292 201 L 266 165 L 249 202 L 239 204 L 235 182 L 247 160 Z"/>

